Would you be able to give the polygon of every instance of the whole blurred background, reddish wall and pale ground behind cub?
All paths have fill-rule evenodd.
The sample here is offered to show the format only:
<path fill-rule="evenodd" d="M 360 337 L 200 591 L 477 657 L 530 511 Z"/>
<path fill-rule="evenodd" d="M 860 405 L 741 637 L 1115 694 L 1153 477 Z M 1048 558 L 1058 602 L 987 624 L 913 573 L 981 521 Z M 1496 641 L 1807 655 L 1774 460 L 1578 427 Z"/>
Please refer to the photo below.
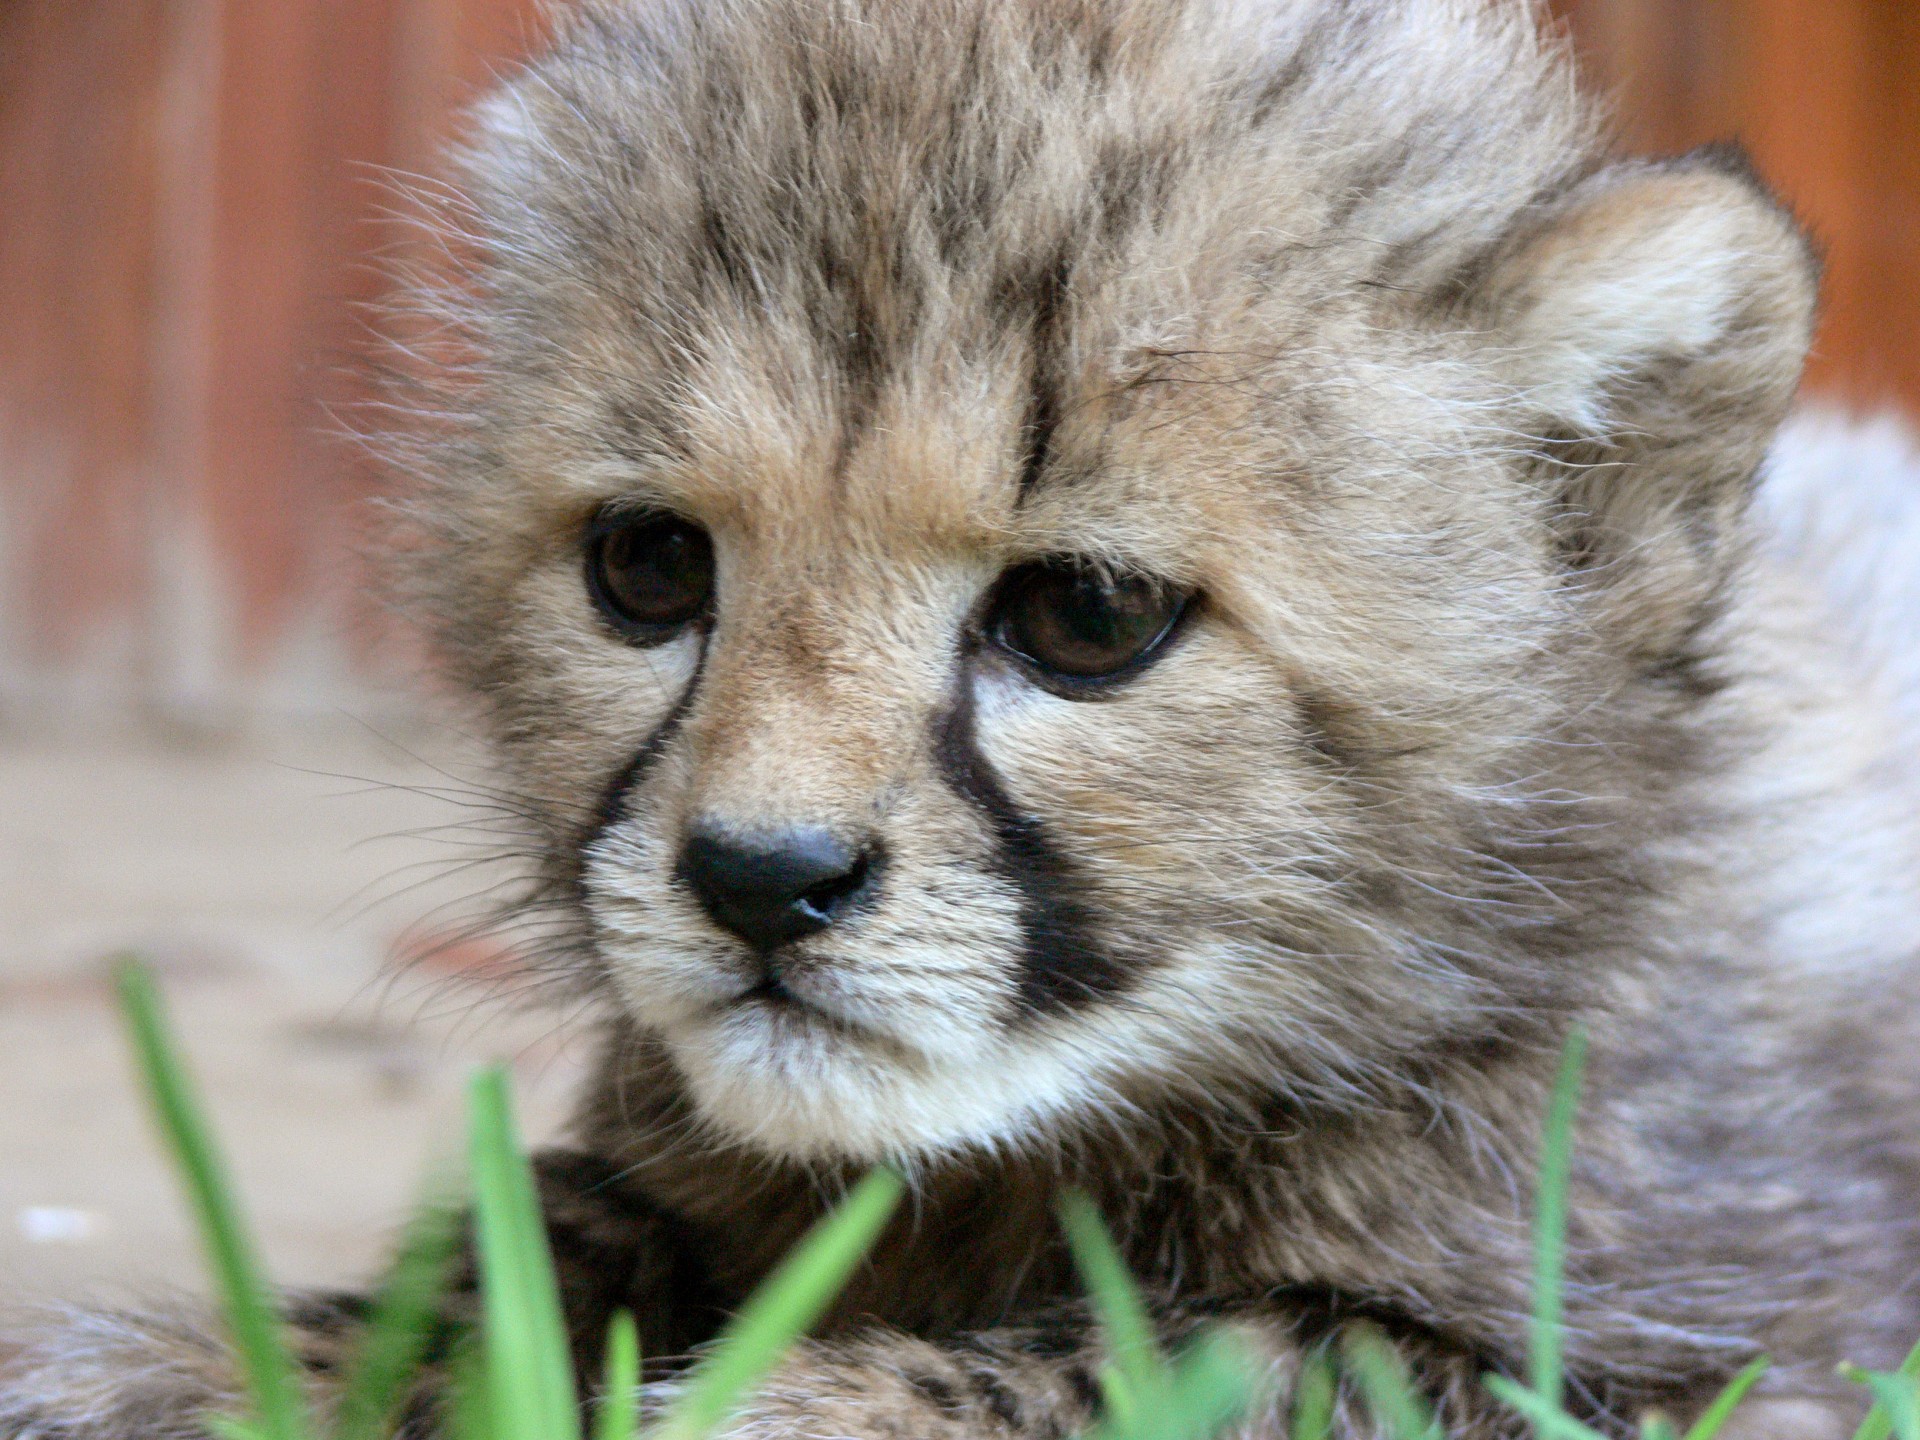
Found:
<path fill-rule="evenodd" d="M 1820 238 L 1811 390 L 1920 407 L 1920 4 L 1557 10 L 1628 148 L 1738 138 Z M 330 438 L 411 244 L 380 173 L 432 175 L 538 35 L 532 0 L 0 0 L 0 1304 L 196 1275 L 127 947 L 282 1279 L 369 1263 L 474 1058 L 557 1123 L 580 1056 L 463 937 L 478 770 Z"/>

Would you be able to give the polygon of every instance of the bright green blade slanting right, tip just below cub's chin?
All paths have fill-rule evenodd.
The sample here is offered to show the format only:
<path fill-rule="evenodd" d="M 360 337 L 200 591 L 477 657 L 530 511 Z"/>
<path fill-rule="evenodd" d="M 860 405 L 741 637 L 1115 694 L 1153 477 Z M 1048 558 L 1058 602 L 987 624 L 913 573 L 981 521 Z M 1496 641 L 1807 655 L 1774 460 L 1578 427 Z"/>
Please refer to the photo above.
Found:
<path fill-rule="evenodd" d="M 687 1379 L 655 1432 L 662 1440 L 703 1440 L 745 1400 L 847 1284 L 900 1202 L 900 1177 L 874 1171 L 845 1204 L 801 1240 Z"/>

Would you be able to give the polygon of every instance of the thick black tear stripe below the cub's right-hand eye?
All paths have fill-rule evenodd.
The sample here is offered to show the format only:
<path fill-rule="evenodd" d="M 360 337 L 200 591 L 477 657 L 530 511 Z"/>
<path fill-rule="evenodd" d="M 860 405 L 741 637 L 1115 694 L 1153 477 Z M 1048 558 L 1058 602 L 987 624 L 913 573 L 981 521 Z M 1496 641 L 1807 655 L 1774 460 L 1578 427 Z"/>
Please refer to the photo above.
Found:
<path fill-rule="evenodd" d="M 1123 991 L 1133 968 L 1100 945 L 1073 862 L 1054 849 L 1039 820 L 1014 804 L 979 753 L 972 691 L 962 687 L 937 724 L 933 753 L 941 778 L 987 818 L 993 868 L 1020 895 L 1020 1004 L 1033 1014 L 1056 1014 Z"/>

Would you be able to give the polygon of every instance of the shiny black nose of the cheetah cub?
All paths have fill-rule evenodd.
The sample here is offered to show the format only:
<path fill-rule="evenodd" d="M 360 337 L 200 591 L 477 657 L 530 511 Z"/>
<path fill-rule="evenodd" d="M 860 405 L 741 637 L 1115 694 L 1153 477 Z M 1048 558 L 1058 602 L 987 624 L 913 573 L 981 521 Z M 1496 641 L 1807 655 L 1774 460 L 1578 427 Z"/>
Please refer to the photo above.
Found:
<path fill-rule="evenodd" d="M 716 924 L 772 950 L 831 925 L 874 881 L 874 852 L 818 826 L 760 833 L 695 826 L 680 879 Z"/>

